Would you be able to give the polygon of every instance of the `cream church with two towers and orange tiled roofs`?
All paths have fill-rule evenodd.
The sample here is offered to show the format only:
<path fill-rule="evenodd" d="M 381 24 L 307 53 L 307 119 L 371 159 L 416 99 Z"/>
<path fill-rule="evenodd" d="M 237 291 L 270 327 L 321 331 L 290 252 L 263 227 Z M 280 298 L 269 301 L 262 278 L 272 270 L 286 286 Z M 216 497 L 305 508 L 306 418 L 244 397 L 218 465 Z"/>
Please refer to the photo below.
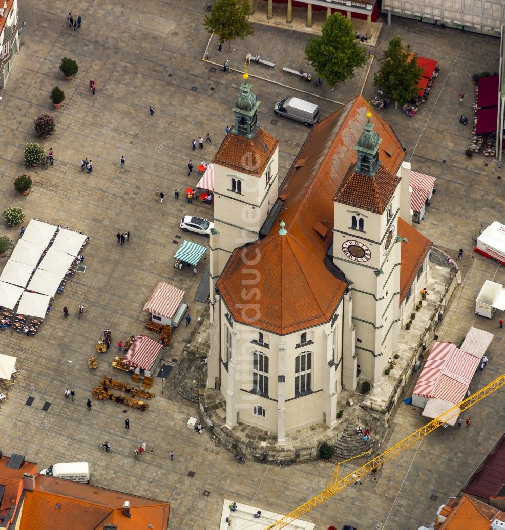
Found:
<path fill-rule="evenodd" d="M 404 149 L 362 96 L 313 127 L 279 187 L 279 142 L 247 74 L 240 91 L 212 161 L 207 386 L 228 429 L 274 432 L 282 447 L 334 427 L 343 388 L 380 387 L 431 242 L 411 226 Z"/>

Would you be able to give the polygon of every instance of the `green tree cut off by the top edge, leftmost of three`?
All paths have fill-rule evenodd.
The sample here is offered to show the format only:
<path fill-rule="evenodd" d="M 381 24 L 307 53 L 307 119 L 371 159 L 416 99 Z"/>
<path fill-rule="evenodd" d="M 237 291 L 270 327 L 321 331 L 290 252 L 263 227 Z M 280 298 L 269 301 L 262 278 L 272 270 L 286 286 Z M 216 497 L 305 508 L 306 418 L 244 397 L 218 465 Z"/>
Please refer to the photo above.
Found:
<path fill-rule="evenodd" d="M 220 42 L 244 40 L 254 34 L 252 24 L 247 20 L 251 14 L 249 0 L 216 0 L 209 15 L 203 19 L 203 27 L 209 33 L 216 33 Z"/>

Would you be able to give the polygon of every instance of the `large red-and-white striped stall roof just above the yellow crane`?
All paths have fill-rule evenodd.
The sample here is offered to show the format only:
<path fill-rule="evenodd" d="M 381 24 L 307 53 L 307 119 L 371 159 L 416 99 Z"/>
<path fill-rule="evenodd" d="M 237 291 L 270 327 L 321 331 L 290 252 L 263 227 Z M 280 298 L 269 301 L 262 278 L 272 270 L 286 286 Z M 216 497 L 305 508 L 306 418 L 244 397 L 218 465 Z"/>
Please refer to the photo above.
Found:
<path fill-rule="evenodd" d="M 412 393 L 457 404 L 464 398 L 479 363 L 480 359 L 451 342 L 436 342 Z"/>

